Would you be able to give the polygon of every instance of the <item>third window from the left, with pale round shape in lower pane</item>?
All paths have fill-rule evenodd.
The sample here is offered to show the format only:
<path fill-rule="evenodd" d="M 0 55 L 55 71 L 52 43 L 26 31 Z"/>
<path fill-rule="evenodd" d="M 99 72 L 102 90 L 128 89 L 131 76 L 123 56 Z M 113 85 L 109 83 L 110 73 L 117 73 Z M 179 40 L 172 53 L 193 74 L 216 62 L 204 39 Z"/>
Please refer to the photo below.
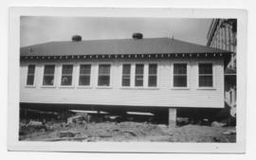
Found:
<path fill-rule="evenodd" d="M 73 74 L 73 65 L 64 64 L 63 71 L 62 71 L 61 85 L 72 85 L 72 74 Z"/>

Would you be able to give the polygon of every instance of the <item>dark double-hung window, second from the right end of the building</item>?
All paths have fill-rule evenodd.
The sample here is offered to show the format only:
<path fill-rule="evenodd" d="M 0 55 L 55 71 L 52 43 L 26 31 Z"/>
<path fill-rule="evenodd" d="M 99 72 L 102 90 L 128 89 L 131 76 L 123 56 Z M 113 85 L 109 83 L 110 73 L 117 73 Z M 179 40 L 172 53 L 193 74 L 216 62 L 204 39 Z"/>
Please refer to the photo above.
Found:
<path fill-rule="evenodd" d="M 186 63 L 174 63 L 174 87 L 187 87 Z"/>

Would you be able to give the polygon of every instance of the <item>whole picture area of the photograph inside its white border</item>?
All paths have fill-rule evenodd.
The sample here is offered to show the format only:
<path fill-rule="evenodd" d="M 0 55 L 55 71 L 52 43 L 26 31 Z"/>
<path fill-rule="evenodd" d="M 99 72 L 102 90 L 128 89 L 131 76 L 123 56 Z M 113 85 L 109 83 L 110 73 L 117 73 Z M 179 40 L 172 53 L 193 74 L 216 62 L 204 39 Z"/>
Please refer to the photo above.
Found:
<path fill-rule="evenodd" d="M 18 142 L 238 142 L 237 17 L 18 19 Z"/>

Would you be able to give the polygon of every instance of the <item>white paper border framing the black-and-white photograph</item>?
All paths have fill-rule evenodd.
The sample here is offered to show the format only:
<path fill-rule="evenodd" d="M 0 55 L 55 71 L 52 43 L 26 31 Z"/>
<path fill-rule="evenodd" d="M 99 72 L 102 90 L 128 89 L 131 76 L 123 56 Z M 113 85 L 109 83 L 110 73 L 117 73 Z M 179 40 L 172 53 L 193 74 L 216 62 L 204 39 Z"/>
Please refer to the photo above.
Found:
<path fill-rule="evenodd" d="M 237 18 L 237 140 L 236 143 L 170 142 L 24 142 L 19 141 L 20 16 L 79 16 L 133 18 Z M 247 10 L 245 9 L 125 9 L 125 8 L 9 8 L 9 151 L 102 152 L 219 152 L 246 151 Z"/>

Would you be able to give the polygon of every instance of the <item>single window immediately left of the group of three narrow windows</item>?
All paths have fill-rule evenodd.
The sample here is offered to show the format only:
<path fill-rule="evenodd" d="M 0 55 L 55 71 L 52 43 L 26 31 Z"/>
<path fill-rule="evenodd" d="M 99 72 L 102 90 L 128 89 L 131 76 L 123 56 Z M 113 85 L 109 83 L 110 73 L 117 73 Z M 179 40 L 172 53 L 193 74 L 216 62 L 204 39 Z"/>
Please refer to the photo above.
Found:
<path fill-rule="evenodd" d="M 109 86 L 110 85 L 110 64 L 100 64 L 99 65 L 99 86 Z"/>

